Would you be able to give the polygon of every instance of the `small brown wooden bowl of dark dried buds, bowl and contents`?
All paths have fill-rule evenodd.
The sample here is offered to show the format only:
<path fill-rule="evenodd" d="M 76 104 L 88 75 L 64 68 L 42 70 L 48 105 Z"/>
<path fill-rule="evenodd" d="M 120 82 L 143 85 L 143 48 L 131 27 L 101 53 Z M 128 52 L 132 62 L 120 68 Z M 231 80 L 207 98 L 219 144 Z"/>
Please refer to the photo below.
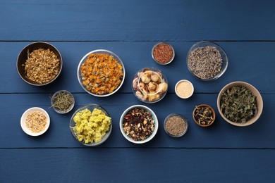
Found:
<path fill-rule="evenodd" d="M 196 106 L 193 111 L 193 119 L 201 127 L 209 127 L 213 124 L 215 118 L 214 109 L 207 104 Z"/>

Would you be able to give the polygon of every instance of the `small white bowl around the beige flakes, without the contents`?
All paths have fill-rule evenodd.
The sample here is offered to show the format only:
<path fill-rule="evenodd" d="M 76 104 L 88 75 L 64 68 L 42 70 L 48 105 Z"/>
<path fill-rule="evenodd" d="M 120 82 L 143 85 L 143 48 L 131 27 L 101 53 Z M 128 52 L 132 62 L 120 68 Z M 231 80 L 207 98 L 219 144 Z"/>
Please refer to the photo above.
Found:
<path fill-rule="evenodd" d="M 46 118 L 47 118 L 47 125 L 45 127 L 45 129 L 42 131 L 42 132 L 38 132 L 38 133 L 34 133 L 32 131 L 30 131 L 27 127 L 26 127 L 26 124 L 25 124 L 25 121 L 27 119 L 27 115 L 29 115 L 30 113 L 33 113 L 33 112 L 40 112 L 40 113 L 43 113 Z M 23 113 L 23 115 L 21 116 L 21 120 L 20 120 L 20 123 L 21 123 L 21 127 L 23 129 L 23 131 L 30 135 L 30 136 L 39 136 L 41 134 L 44 134 L 44 132 L 46 132 L 49 128 L 49 123 L 50 123 L 50 119 L 49 119 L 49 114 L 43 109 L 43 108 L 37 108 L 37 107 L 34 107 L 34 108 L 29 108 L 27 109 L 27 111 L 25 111 Z"/>

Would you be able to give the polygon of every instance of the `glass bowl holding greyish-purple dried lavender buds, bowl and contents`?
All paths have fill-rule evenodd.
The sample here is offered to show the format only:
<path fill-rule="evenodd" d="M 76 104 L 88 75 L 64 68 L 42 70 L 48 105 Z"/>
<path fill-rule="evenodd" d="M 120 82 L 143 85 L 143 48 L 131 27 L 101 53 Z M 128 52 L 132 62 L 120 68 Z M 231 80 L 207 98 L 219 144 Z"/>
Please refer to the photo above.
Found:
<path fill-rule="evenodd" d="M 226 72 L 226 52 L 214 42 L 197 42 L 188 51 L 188 70 L 199 80 L 216 80 Z"/>

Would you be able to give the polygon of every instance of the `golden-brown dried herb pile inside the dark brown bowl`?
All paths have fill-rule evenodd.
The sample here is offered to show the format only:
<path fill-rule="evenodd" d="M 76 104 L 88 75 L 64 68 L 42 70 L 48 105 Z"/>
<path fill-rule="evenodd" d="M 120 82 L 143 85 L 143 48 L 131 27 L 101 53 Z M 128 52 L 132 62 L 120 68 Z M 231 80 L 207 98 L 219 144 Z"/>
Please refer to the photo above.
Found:
<path fill-rule="evenodd" d="M 32 53 L 27 52 L 25 72 L 32 82 L 44 84 L 54 80 L 59 74 L 60 61 L 54 51 L 49 49 L 36 49 Z"/>

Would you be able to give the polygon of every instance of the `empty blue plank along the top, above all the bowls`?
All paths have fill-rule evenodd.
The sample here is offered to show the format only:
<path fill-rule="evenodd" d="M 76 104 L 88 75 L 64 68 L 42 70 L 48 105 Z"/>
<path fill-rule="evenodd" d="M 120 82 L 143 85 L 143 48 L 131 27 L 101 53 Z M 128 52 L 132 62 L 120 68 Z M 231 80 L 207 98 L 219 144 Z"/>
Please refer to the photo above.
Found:
<path fill-rule="evenodd" d="M 1 41 L 275 40 L 274 1 L 0 1 Z"/>

